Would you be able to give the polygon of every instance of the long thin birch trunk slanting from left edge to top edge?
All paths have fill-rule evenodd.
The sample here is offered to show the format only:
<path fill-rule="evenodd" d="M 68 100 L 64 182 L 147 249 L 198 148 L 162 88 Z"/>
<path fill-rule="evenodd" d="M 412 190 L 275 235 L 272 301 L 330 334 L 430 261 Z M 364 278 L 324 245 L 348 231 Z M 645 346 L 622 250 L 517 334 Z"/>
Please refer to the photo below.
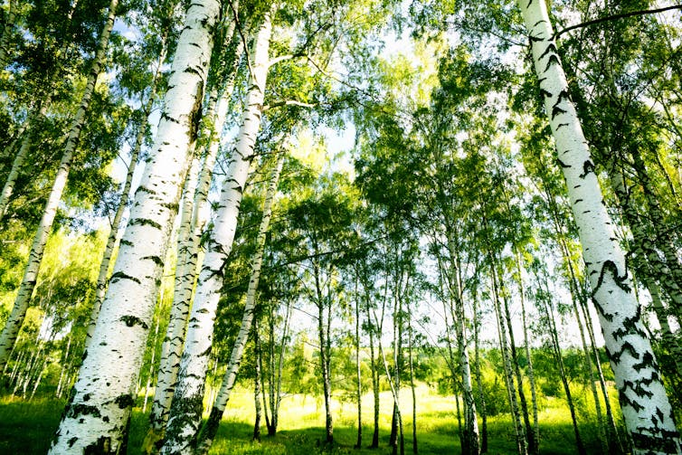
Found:
<path fill-rule="evenodd" d="M 43 261 L 45 244 L 47 243 L 47 238 L 50 235 L 50 231 L 52 230 L 52 223 L 54 222 L 54 217 L 57 214 L 57 208 L 59 207 L 59 202 L 62 199 L 64 188 L 66 187 L 66 181 L 69 177 L 69 170 L 71 169 L 73 153 L 75 152 L 79 138 L 81 137 L 81 130 L 85 125 L 85 114 L 90 107 L 90 97 L 92 96 L 92 92 L 95 90 L 95 83 L 97 82 L 100 68 L 107 53 L 109 35 L 111 33 L 111 29 L 114 26 L 117 5 L 118 0 L 111 0 L 111 3 L 109 4 L 107 22 L 104 24 L 102 33 L 99 36 L 97 53 L 95 54 L 95 60 L 92 62 L 92 67 L 90 68 L 90 74 L 88 75 L 88 81 L 86 83 L 85 90 L 81 96 L 81 104 L 71 122 L 71 129 L 69 130 L 69 136 L 67 137 L 66 144 L 64 146 L 62 161 L 60 163 L 59 169 L 57 170 L 57 175 L 54 179 L 54 183 L 52 184 L 52 190 L 48 196 L 47 203 L 43 209 L 43 217 L 40 224 L 38 225 L 37 232 L 35 232 L 35 237 L 33 238 L 33 245 L 29 254 L 28 263 L 26 264 L 26 269 L 24 270 L 24 278 L 19 287 L 19 292 L 16 296 L 16 299 L 14 300 L 14 308 L 12 308 L 12 313 L 5 323 L 5 328 L 2 335 L 0 335 L 0 365 L 5 365 L 5 362 L 7 361 L 7 355 L 12 349 L 12 346 L 14 346 L 16 337 L 19 334 L 19 329 L 22 327 L 22 324 L 24 324 L 26 310 L 28 309 L 29 303 L 31 302 L 33 289 L 35 289 L 35 283 L 38 278 L 38 270 L 40 269 L 41 261 Z"/>

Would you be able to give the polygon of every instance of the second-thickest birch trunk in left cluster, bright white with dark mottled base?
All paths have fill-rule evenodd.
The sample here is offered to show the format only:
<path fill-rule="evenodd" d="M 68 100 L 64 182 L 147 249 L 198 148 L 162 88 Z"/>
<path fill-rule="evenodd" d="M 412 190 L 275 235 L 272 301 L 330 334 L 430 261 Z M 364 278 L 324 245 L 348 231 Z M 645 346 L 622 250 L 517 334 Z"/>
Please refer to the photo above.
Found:
<path fill-rule="evenodd" d="M 185 349 L 180 359 L 175 395 L 166 425 L 166 435 L 169 437 L 166 438 L 162 449 L 162 453 L 166 455 L 191 450 L 201 422 L 206 368 L 213 343 L 213 325 L 220 289 L 223 285 L 223 265 L 232 250 L 242 192 L 260 129 L 271 30 L 270 13 L 266 13 L 256 36 L 250 90 L 246 96 L 246 109 L 239 139 L 221 191 L 215 226 L 206 247 L 204 265 L 199 275 L 194 306 L 189 318 Z"/>

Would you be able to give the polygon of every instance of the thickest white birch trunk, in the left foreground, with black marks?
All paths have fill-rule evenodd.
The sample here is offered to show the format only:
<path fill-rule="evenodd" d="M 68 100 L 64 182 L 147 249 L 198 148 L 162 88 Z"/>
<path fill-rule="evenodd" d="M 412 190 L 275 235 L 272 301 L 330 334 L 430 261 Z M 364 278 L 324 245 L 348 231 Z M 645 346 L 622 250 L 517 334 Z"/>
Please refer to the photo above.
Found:
<path fill-rule="evenodd" d="M 52 442 L 53 455 L 121 449 L 179 188 L 201 115 L 219 14 L 216 0 L 196 0 L 187 9 L 154 152 L 135 194 L 93 342 Z"/>

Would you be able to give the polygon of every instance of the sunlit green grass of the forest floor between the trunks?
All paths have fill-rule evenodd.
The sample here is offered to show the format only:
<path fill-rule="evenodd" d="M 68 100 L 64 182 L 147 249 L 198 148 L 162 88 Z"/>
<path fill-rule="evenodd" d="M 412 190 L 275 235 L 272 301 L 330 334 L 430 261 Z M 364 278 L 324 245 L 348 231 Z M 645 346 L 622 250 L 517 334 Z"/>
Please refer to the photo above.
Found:
<path fill-rule="evenodd" d="M 403 422 L 405 453 L 412 453 L 412 400 L 403 392 Z M 253 394 L 236 390 L 225 412 L 220 431 L 213 443 L 213 454 L 388 454 L 387 447 L 391 425 L 391 395 L 382 393 L 380 448 L 366 448 L 372 441 L 372 399 L 367 395 L 363 405 L 363 449 L 355 450 L 357 438 L 355 403 L 335 403 L 334 439 L 331 448 L 320 447 L 324 441 L 324 404 L 312 396 L 290 395 L 283 399 L 278 434 L 268 437 L 263 428 L 260 442 L 251 441 L 253 434 Z M 454 397 L 432 393 L 427 387 L 419 390 L 417 414 L 417 440 L 419 453 L 457 454 L 457 417 Z M 554 406 L 545 406 L 540 413 L 541 453 L 547 455 L 576 452 L 568 408 L 563 400 Z M 32 402 L 5 397 L 0 399 L 0 454 L 32 455 L 46 453 L 52 435 L 62 414 L 64 401 L 33 399 Z M 148 407 L 147 407 L 148 413 Z M 147 429 L 147 413 L 135 408 L 130 426 L 128 454 L 140 453 Z M 589 416 L 583 416 L 580 426 L 587 452 L 599 451 L 599 441 Z M 367 425 L 369 423 L 369 425 Z M 480 421 L 479 421 L 480 425 Z M 488 418 L 488 453 L 516 453 L 514 430 L 508 414 Z"/>

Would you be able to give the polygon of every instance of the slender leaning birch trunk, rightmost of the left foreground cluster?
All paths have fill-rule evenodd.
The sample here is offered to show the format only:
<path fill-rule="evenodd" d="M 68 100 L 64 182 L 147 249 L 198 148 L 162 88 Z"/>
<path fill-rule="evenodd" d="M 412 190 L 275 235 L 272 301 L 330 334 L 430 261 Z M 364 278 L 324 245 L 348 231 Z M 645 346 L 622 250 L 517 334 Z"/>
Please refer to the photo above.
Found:
<path fill-rule="evenodd" d="M 263 217 L 260 220 L 258 236 L 256 237 L 256 254 L 253 257 L 253 261 L 251 262 L 251 278 L 246 291 L 246 303 L 244 304 L 242 326 L 240 327 L 239 333 L 234 340 L 234 346 L 232 346 L 232 353 L 230 354 L 230 361 L 227 364 L 227 371 L 225 371 L 225 375 L 223 377 L 223 384 L 221 384 L 220 392 L 215 397 L 211 414 L 208 418 L 208 421 L 199 431 L 197 437 L 197 453 L 207 453 L 211 448 L 215 434 L 218 432 L 220 421 L 223 419 L 225 406 L 227 406 L 227 402 L 230 400 L 230 394 L 232 393 L 234 382 L 237 379 L 239 367 L 242 363 L 244 347 L 246 347 L 246 341 L 249 337 L 249 333 L 251 332 L 251 323 L 253 321 L 253 315 L 256 308 L 256 290 L 258 290 L 260 267 L 262 266 L 263 253 L 265 252 L 265 238 L 270 227 L 272 203 L 275 199 L 275 194 L 277 194 L 279 174 L 281 173 L 283 163 L 284 152 L 282 152 L 278 157 L 275 169 L 270 176 L 270 185 L 268 187 L 268 191 L 265 196 L 265 202 L 263 204 Z"/>

